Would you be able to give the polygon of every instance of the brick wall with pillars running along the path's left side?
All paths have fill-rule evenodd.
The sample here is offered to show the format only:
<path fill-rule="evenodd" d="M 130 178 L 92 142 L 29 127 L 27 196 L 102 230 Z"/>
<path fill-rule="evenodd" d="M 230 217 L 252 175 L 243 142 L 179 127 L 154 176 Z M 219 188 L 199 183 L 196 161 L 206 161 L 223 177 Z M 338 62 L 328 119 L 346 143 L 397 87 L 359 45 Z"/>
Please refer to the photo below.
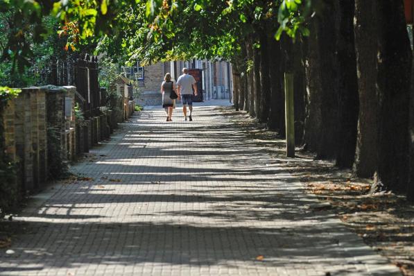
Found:
<path fill-rule="evenodd" d="M 111 110 L 76 122 L 75 93 L 76 87 L 69 86 L 28 87 L 8 102 L 0 120 L 5 127 L 5 150 L 17 164 L 21 191 L 42 189 L 53 165 L 76 161 L 77 155 L 108 139 L 116 127 Z M 132 116 L 135 103 L 121 98 L 120 107 L 122 121 Z M 53 140 L 50 133 L 58 139 Z M 52 140 L 58 141 L 58 155 L 48 150 Z"/>

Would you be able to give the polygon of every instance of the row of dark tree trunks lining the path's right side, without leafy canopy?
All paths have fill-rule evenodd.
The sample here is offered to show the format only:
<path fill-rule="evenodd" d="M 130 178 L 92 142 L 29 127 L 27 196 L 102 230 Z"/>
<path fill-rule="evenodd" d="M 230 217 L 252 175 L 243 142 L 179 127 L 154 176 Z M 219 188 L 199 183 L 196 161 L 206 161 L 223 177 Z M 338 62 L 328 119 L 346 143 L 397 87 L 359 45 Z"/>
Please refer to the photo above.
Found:
<path fill-rule="evenodd" d="M 284 135 L 282 80 L 284 72 L 294 72 L 297 141 L 318 159 L 374 177 L 372 191 L 414 200 L 412 53 L 404 3 L 319 3 L 307 18 L 309 37 L 296 37 L 294 44 L 287 37 L 273 40 L 267 20 L 246 36 L 233 59 L 241 72 L 235 107 Z M 252 60 L 250 71 L 244 54 Z"/>

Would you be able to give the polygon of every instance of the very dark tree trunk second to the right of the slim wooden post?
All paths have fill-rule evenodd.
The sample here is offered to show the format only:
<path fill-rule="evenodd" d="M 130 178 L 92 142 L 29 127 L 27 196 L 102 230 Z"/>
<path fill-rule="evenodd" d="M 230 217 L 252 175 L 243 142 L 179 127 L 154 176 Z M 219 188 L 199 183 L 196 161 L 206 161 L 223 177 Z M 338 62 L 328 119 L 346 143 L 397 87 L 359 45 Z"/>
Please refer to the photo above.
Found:
<path fill-rule="evenodd" d="M 359 112 L 358 79 L 354 44 L 354 0 L 340 3 L 340 28 L 337 41 L 338 91 L 338 155 L 336 165 L 351 169 L 354 163 Z"/>

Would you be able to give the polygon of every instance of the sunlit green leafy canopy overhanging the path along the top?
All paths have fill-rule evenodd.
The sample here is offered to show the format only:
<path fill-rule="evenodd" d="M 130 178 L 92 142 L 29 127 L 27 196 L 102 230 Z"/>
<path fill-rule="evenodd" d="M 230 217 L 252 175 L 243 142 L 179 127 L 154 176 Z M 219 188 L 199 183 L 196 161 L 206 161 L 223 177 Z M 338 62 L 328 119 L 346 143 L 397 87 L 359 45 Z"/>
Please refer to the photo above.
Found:
<path fill-rule="evenodd" d="M 24 71 L 35 44 L 57 32 L 66 51 L 96 44 L 97 51 L 123 60 L 231 60 L 245 35 L 264 24 L 276 38 L 283 32 L 307 35 L 310 10 L 311 1 L 304 0 L 0 0 L 0 12 L 9 17 L 1 26 L 1 58 L 12 62 L 12 71 Z M 55 19 L 58 30 L 46 17 Z"/>

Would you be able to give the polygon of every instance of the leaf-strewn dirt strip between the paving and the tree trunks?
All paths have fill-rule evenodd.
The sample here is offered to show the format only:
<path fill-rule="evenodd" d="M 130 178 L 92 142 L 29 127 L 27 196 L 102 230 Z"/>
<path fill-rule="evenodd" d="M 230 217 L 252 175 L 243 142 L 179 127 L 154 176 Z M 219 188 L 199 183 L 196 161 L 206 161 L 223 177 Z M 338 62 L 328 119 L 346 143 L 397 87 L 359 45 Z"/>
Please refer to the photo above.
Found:
<path fill-rule="evenodd" d="M 340 170 L 332 162 L 315 160 L 309 153 L 297 149 L 295 159 L 286 159 L 284 141 L 277 133 L 257 128 L 251 119 L 240 120 L 243 112 L 221 108 L 226 114 L 237 115 L 237 123 L 257 146 L 266 148 L 273 162 L 267 166 L 290 173 L 304 183 L 308 193 L 315 194 L 322 205 L 356 232 L 379 254 L 388 257 L 404 275 L 414 275 L 414 206 L 404 196 L 393 193 L 368 193 L 370 180 L 354 178 L 347 170 Z"/>

